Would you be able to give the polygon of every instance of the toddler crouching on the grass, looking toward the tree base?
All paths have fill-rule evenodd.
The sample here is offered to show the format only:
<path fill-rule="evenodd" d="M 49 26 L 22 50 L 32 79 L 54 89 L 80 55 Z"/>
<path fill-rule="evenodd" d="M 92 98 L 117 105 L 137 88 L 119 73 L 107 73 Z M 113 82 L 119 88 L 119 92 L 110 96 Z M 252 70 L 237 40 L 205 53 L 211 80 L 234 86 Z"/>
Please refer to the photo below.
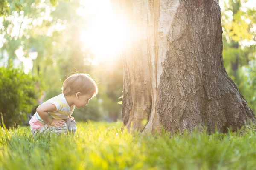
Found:
<path fill-rule="evenodd" d="M 29 121 L 32 136 L 36 133 L 76 133 L 71 116 L 74 108 L 83 108 L 96 96 L 98 87 L 88 74 L 73 74 L 62 85 L 62 94 L 39 105 Z"/>

